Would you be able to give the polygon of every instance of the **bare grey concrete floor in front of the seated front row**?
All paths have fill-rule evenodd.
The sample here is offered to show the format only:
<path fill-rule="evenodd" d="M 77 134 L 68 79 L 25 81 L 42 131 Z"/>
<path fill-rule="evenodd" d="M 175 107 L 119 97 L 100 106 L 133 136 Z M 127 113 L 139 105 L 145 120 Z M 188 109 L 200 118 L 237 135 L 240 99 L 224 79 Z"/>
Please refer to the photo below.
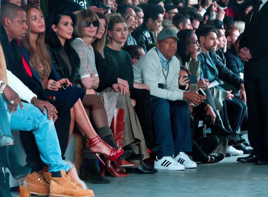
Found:
<path fill-rule="evenodd" d="M 198 164 L 196 169 L 184 171 L 159 170 L 154 175 L 131 174 L 127 178 L 106 176 L 112 181 L 109 184 L 86 183 L 96 197 L 267 197 L 268 166 L 241 164 L 236 162 L 237 157 L 227 157 L 214 164 Z M 18 197 L 19 193 L 12 195 Z"/>

